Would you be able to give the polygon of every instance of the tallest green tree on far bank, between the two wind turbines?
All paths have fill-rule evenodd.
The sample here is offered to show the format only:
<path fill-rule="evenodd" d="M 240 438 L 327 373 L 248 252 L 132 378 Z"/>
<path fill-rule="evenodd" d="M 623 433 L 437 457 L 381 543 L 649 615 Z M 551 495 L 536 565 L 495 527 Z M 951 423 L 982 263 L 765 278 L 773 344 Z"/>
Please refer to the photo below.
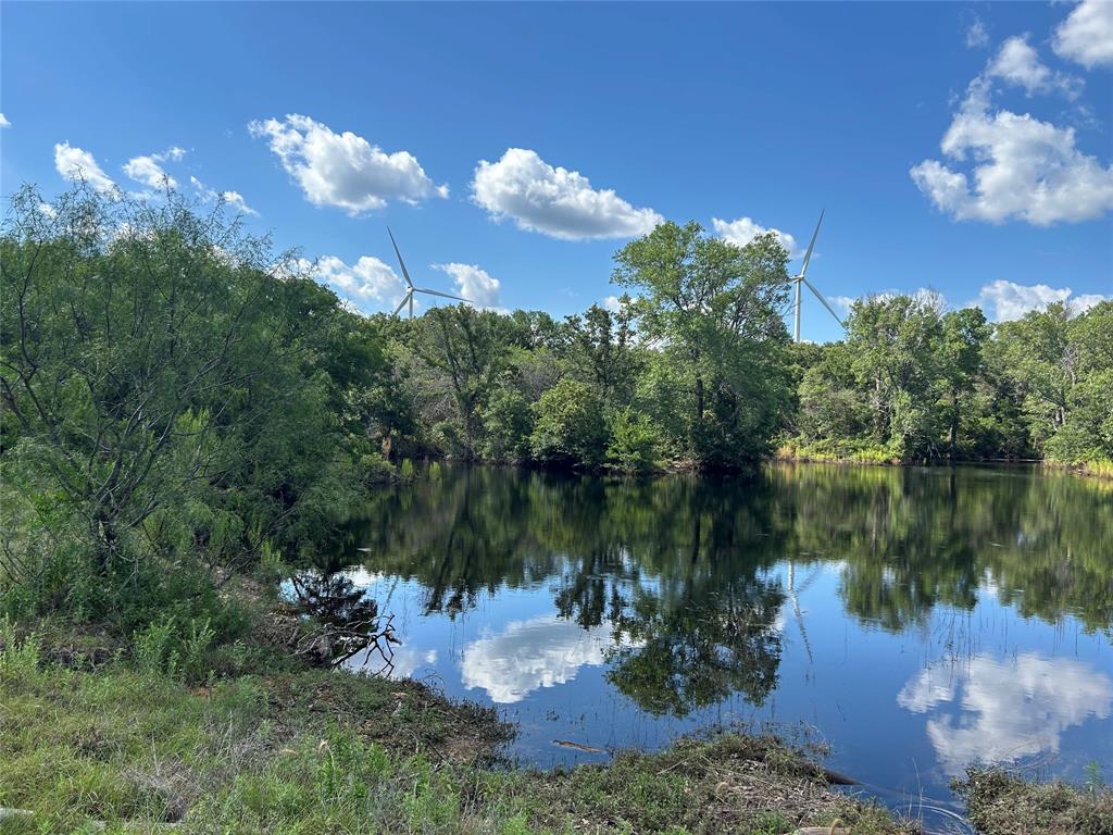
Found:
<path fill-rule="evenodd" d="M 788 254 L 776 236 L 739 248 L 696 222 L 666 223 L 614 261 L 612 281 L 640 293 L 639 335 L 669 364 L 658 365 L 660 386 L 683 394 L 682 453 L 707 466 L 766 454 L 788 400 Z M 657 416 L 677 405 L 650 409 Z"/>

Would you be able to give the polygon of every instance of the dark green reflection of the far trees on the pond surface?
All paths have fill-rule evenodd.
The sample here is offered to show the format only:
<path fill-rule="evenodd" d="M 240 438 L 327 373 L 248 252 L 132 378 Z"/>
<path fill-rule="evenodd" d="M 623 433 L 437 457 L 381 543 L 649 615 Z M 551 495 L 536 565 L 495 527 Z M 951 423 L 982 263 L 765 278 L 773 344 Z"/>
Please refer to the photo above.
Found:
<path fill-rule="evenodd" d="M 786 600 L 806 640 L 781 567 L 836 570 L 846 612 L 892 632 L 988 592 L 1025 617 L 1111 633 L 1113 488 L 1100 482 L 977 466 L 442 473 L 383 491 L 352 524 L 366 567 L 416 580 L 426 612 L 449 617 L 503 588 L 552 588 L 559 617 L 610 630 L 611 682 L 653 714 L 770 692 Z"/>

